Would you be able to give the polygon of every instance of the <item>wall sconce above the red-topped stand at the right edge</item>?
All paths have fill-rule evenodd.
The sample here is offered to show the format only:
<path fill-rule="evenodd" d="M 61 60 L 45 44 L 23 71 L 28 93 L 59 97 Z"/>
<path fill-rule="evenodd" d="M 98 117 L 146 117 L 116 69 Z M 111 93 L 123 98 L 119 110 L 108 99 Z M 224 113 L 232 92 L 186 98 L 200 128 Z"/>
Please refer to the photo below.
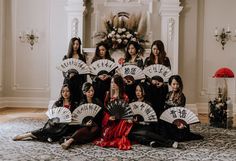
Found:
<path fill-rule="evenodd" d="M 236 30 L 235 30 L 236 32 Z M 221 33 L 218 33 L 218 28 L 216 27 L 215 29 L 215 38 L 216 41 L 220 42 L 222 45 L 222 49 L 224 50 L 224 46 L 226 44 L 227 41 L 231 40 L 231 41 L 235 41 L 233 40 L 234 37 L 236 37 L 236 35 L 232 36 L 231 35 L 231 31 L 229 29 L 229 26 L 227 27 L 227 31 L 225 31 L 225 28 L 222 29 Z"/>

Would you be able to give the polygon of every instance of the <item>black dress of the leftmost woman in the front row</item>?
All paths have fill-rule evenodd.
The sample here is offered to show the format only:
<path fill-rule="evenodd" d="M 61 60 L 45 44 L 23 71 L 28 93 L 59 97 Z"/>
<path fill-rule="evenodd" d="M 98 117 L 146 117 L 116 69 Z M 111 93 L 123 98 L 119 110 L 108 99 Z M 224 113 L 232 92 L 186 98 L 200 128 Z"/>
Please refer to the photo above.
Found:
<path fill-rule="evenodd" d="M 63 101 L 59 100 L 54 103 L 52 108 L 62 107 Z M 70 111 L 76 108 L 76 104 L 71 104 Z M 59 141 L 63 136 L 73 133 L 76 130 L 75 126 L 69 126 L 66 123 L 56 123 L 55 119 L 49 119 L 43 128 L 31 131 L 36 136 L 38 141 L 55 142 Z"/>

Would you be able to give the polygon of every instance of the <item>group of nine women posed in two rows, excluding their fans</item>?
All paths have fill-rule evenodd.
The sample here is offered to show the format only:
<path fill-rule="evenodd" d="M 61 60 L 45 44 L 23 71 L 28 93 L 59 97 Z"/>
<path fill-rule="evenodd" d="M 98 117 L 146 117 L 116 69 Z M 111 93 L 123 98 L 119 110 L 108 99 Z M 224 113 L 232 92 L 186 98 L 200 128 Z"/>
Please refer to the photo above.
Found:
<path fill-rule="evenodd" d="M 122 65 L 136 65 L 143 69 L 152 64 L 162 64 L 169 69 L 170 61 L 166 56 L 162 41 L 156 40 L 151 46 L 150 56 L 143 59 L 138 54 L 139 44 L 131 41 L 125 53 Z M 81 41 L 72 38 L 67 55 L 63 60 L 75 58 L 86 63 L 81 52 Z M 114 62 L 109 54 L 107 45 L 103 42 L 97 44 L 92 63 L 108 59 Z M 17 135 L 13 140 L 37 139 L 40 141 L 59 141 L 63 149 L 68 149 L 72 144 L 93 142 L 102 147 L 117 147 L 122 150 L 131 149 L 132 143 L 140 143 L 152 147 L 179 148 L 179 141 L 203 139 L 199 134 L 190 132 L 188 125 L 170 124 L 158 120 L 154 123 L 140 124 L 142 118 L 120 119 L 111 115 L 107 110 L 109 102 L 120 100 L 130 103 L 135 101 L 145 102 L 153 107 L 157 117 L 170 107 L 185 106 L 186 98 L 183 94 L 183 83 L 179 75 L 172 75 L 168 84 L 160 76 L 154 76 L 142 81 L 134 80 L 132 83 L 117 74 L 101 70 L 96 76 L 91 76 L 92 82 L 87 82 L 86 75 L 79 74 L 76 70 L 63 73 L 64 82 L 60 98 L 53 107 L 65 107 L 71 112 L 81 104 L 94 103 L 102 110 L 94 119 L 87 120 L 85 125 L 68 125 L 55 123 L 49 119 L 43 128 Z M 168 89 L 171 87 L 171 91 Z"/>

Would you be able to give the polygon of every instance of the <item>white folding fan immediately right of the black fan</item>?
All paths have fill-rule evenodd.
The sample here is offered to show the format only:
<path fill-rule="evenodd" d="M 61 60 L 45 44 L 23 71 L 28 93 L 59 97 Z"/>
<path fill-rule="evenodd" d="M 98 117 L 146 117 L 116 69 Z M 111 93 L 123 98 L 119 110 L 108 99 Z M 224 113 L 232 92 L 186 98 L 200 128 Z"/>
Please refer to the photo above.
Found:
<path fill-rule="evenodd" d="M 133 115 L 140 115 L 144 122 L 157 122 L 157 115 L 153 108 L 145 102 L 132 102 L 129 104 Z"/>

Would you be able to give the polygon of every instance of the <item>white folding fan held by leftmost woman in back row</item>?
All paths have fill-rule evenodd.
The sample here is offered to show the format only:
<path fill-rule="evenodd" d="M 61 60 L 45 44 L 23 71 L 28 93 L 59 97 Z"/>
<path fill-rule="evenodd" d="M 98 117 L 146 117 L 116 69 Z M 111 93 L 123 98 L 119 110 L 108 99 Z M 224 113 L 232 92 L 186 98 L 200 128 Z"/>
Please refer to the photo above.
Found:
<path fill-rule="evenodd" d="M 68 72 L 68 70 L 74 69 L 79 74 L 90 73 L 89 66 L 85 62 L 74 58 L 63 60 L 56 68 L 62 72 Z"/>

